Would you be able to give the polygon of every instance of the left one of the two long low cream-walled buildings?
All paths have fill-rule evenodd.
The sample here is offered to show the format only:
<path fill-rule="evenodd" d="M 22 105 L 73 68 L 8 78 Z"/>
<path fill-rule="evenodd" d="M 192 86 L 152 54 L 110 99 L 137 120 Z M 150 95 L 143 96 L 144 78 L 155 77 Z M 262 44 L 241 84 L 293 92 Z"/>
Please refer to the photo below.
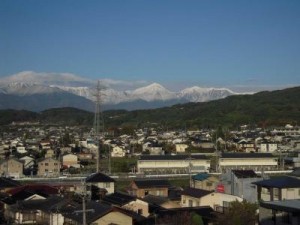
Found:
<path fill-rule="evenodd" d="M 205 155 L 141 155 L 139 173 L 199 173 L 208 172 L 210 160 Z"/>

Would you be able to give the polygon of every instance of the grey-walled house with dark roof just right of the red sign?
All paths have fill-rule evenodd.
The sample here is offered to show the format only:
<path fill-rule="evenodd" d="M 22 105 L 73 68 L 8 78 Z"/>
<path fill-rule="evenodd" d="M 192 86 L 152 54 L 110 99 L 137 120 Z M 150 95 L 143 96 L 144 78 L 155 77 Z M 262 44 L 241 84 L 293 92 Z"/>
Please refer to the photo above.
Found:
<path fill-rule="evenodd" d="M 248 202 L 257 202 L 256 186 L 253 182 L 263 180 L 253 170 L 229 170 L 220 176 L 224 193 L 239 196 Z"/>

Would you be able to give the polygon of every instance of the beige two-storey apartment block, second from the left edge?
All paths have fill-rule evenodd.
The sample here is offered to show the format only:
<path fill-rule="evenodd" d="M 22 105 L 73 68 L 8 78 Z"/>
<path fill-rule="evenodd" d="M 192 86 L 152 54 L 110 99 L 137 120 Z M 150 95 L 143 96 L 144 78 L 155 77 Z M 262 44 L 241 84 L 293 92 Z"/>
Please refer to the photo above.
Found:
<path fill-rule="evenodd" d="M 58 177 L 60 174 L 60 162 L 53 158 L 45 158 L 38 161 L 38 176 Z"/>

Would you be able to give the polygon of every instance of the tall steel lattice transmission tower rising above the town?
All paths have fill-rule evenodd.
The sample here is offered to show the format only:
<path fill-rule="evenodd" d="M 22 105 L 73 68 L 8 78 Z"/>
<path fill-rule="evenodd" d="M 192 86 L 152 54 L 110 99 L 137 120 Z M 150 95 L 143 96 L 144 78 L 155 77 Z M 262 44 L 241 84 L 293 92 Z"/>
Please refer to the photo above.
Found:
<path fill-rule="evenodd" d="M 96 93 L 95 93 L 95 116 L 94 116 L 94 141 L 97 143 L 97 168 L 96 172 L 99 172 L 99 163 L 100 163 L 100 136 L 104 135 L 104 119 L 103 119 L 103 113 L 101 109 L 101 103 L 102 103 L 102 93 L 101 90 L 103 88 L 100 85 L 100 81 L 98 80 Z"/>

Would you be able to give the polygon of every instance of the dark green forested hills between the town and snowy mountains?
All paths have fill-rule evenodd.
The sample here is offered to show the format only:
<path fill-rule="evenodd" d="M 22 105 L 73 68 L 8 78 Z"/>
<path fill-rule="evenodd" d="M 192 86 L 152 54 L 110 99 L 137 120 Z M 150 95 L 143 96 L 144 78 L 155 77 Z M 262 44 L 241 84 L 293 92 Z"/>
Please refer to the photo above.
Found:
<path fill-rule="evenodd" d="M 75 108 L 49 109 L 40 113 L 16 110 L 10 110 L 8 113 L 7 110 L 0 110 L 0 118 L 0 124 L 31 119 L 45 124 L 91 126 L 93 113 Z M 209 102 L 176 104 L 159 109 L 108 110 L 104 111 L 104 121 L 107 129 L 116 126 L 149 125 L 165 129 L 218 126 L 236 128 L 243 124 L 262 127 L 287 123 L 299 125 L 300 87 L 264 91 L 253 95 L 232 95 Z"/>

